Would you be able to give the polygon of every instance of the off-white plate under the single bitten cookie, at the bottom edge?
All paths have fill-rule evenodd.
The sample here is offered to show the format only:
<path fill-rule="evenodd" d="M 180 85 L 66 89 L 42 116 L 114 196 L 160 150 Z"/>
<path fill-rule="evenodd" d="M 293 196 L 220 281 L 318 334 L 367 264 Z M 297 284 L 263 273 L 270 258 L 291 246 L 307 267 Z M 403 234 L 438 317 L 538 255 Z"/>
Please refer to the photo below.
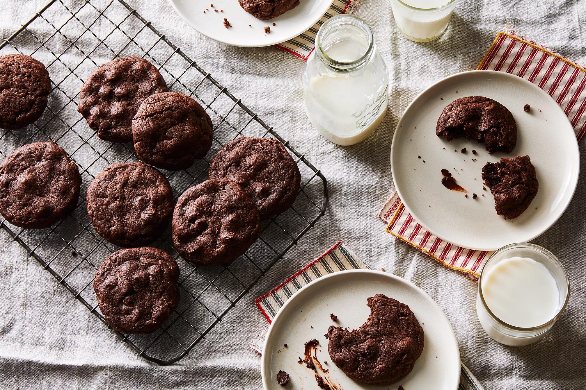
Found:
<path fill-rule="evenodd" d="M 370 314 L 366 306 L 369 296 L 384 294 L 406 303 L 423 327 L 425 343 L 421 357 L 407 377 L 391 386 L 365 385 L 353 381 L 331 362 L 328 340 L 323 334 L 334 323 L 357 329 Z M 312 328 L 313 327 L 313 328 Z M 314 371 L 298 363 L 304 357 L 305 341 L 316 338 L 320 345 L 317 357 L 327 361 L 329 377 L 344 390 L 405 389 L 456 390 L 460 378 L 458 343 L 448 319 L 440 307 L 413 283 L 390 273 L 356 269 L 334 272 L 314 280 L 295 293 L 277 313 L 268 330 L 261 360 L 265 390 L 281 390 L 275 379 L 279 370 L 286 371 L 291 380 L 287 389 L 317 389 Z M 287 348 L 284 348 L 284 344 Z"/>

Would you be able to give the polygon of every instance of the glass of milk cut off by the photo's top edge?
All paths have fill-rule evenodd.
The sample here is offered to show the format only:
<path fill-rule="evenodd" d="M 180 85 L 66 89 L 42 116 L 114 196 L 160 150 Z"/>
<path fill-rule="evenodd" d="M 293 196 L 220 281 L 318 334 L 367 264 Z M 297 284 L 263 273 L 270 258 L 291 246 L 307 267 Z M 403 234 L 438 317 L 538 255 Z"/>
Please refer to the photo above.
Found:
<path fill-rule="evenodd" d="M 458 0 L 390 0 L 401 33 L 414 42 L 430 42 L 448 27 Z"/>

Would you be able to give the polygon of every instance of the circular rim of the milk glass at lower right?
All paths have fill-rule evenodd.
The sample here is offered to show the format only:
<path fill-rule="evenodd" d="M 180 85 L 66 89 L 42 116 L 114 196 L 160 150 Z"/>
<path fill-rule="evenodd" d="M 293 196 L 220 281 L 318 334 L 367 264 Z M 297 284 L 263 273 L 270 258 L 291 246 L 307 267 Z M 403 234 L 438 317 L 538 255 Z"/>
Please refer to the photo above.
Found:
<path fill-rule="evenodd" d="M 553 316 L 553 318 L 550 319 L 549 321 L 547 321 L 546 323 L 541 324 L 541 325 L 537 325 L 537 326 L 532 326 L 532 327 L 515 326 L 515 325 L 511 325 L 511 324 L 506 323 L 505 321 L 499 319 L 499 317 L 497 317 L 492 311 L 490 311 L 490 308 L 486 304 L 486 301 L 484 300 L 484 296 L 482 295 L 482 275 L 484 274 L 484 271 L 486 269 L 486 265 L 489 264 L 490 259 L 492 259 L 495 255 L 501 254 L 502 252 L 505 252 L 505 251 L 507 251 L 509 249 L 519 248 L 519 247 L 527 247 L 527 248 L 531 248 L 531 249 L 540 251 L 548 259 L 550 259 L 550 261 L 552 261 L 556 265 L 560 266 L 560 269 L 564 272 L 565 282 L 566 282 L 566 284 L 568 286 L 567 291 L 565 292 L 566 295 L 565 295 L 564 304 L 561 305 L 560 309 L 558 309 L 558 311 L 556 312 L 556 315 Z M 531 331 L 537 331 L 537 330 L 541 330 L 541 329 L 546 330 L 550 325 L 552 325 L 553 323 L 555 323 L 561 317 L 561 314 L 563 314 L 564 311 L 565 311 L 565 307 L 568 306 L 568 302 L 570 300 L 570 279 L 568 278 L 568 273 L 567 273 L 567 271 L 565 271 L 564 265 L 561 264 L 560 260 L 556 257 L 556 255 L 554 255 L 553 253 L 551 253 L 550 251 L 548 251 L 546 248 L 540 247 L 539 245 L 530 244 L 529 242 L 517 242 L 515 244 L 509 244 L 509 245 L 505 245 L 502 248 L 499 248 L 492 255 L 490 255 L 490 257 L 488 258 L 488 260 L 482 266 L 480 275 L 478 277 L 478 296 L 480 297 L 480 300 L 482 302 L 482 306 L 484 307 L 484 309 L 486 310 L 486 312 L 489 314 L 489 316 L 493 320 L 495 320 L 498 324 L 500 324 L 501 326 L 504 326 L 504 327 L 507 327 L 507 328 L 513 329 L 513 330 L 523 331 L 523 332 L 531 332 Z"/>

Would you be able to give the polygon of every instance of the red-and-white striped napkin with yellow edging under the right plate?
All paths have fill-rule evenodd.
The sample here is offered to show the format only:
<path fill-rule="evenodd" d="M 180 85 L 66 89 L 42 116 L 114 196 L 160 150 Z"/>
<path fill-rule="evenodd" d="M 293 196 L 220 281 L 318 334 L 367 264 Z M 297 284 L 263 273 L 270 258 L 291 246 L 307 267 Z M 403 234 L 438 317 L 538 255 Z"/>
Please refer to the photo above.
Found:
<path fill-rule="evenodd" d="M 507 29 L 499 32 L 478 69 L 516 74 L 539 85 L 568 115 L 578 141 L 586 132 L 586 70 L 533 40 Z M 430 255 L 441 264 L 478 279 L 492 252 L 456 247 L 435 237 L 413 219 L 396 191 L 380 209 L 386 231 Z"/>

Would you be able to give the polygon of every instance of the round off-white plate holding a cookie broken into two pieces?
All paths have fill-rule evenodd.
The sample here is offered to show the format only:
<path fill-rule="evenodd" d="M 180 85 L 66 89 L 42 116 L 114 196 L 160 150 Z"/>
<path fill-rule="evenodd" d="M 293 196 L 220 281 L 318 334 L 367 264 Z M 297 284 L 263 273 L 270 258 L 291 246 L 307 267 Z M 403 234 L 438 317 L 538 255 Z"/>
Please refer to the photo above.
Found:
<path fill-rule="evenodd" d="M 512 112 L 517 145 L 511 153 L 489 155 L 482 143 L 464 138 L 446 142 L 435 135 L 444 108 L 471 95 L 494 99 Z M 531 106 L 529 113 L 523 111 L 525 104 Z M 462 154 L 462 148 L 468 153 Z M 482 190 L 482 167 L 487 161 L 524 155 L 535 166 L 539 191 L 520 217 L 505 220 L 496 215 L 488 187 Z M 468 199 L 441 184 L 441 169 L 448 169 L 469 191 Z M 580 155 L 574 129 L 550 95 L 513 74 L 475 70 L 446 77 L 411 102 L 393 137 L 391 170 L 403 204 L 425 229 L 460 247 L 490 251 L 533 240 L 560 218 L 574 196 Z M 478 194 L 476 200 L 472 193 Z"/>

